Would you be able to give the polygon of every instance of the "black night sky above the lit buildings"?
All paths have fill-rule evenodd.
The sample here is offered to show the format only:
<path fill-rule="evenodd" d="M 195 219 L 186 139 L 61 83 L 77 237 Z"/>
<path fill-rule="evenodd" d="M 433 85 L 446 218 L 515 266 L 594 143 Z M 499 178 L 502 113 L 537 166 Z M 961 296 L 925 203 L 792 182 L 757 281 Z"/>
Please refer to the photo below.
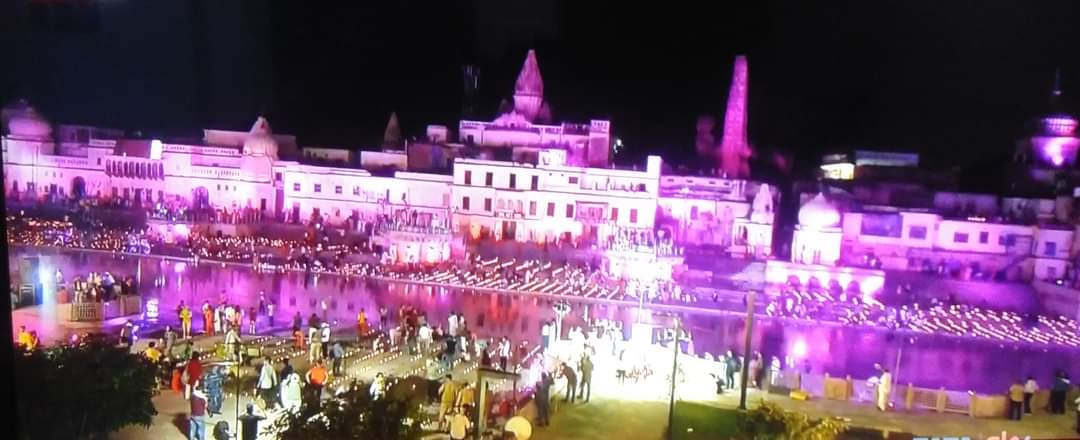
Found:
<path fill-rule="evenodd" d="M 376 146 L 391 111 L 406 135 L 456 126 L 465 64 L 489 119 L 529 48 L 556 120 L 610 118 L 633 162 L 692 159 L 694 120 L 723 115 L 738 53 L 752 142 L 804 168 L 853 148 L 991 163 L 1045 107 L 1055 68 L 1069 109 L 1080 95 L 1080 2 L 173 0 L 154 4 L 178 18 L 152 24 L 137 2 L 75 2 L 89 25 L 17 3 L 0 6 L 4 64 L 19 64 L 0 74 L 0 98 L 151 134 L 246 129 L 262 112 L 301 145 Z"/>

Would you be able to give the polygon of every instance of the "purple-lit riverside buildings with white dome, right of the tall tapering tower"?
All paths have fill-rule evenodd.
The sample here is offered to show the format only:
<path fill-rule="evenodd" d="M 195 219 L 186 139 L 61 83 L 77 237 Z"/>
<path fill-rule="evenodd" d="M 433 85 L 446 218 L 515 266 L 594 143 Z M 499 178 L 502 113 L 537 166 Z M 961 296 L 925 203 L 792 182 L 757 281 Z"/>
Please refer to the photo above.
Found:
<path fill-rule="evenodd" d="M 1076 284 L 1080 138 L 1061 95 L 1055 84 L 1051 109 L 1016 143 L 1000 194 L 960 191 L 956 171 L 926 172 L 914 154 L 825 157 L 823 179 L 800 199 L 804 210 L 824 203 L 835 210 L 829 239 L 801 240 L 807 225 L 800 212 L 793 261 L 827 255 L 828 263 L 835 256 L 847 267 Z"/>

